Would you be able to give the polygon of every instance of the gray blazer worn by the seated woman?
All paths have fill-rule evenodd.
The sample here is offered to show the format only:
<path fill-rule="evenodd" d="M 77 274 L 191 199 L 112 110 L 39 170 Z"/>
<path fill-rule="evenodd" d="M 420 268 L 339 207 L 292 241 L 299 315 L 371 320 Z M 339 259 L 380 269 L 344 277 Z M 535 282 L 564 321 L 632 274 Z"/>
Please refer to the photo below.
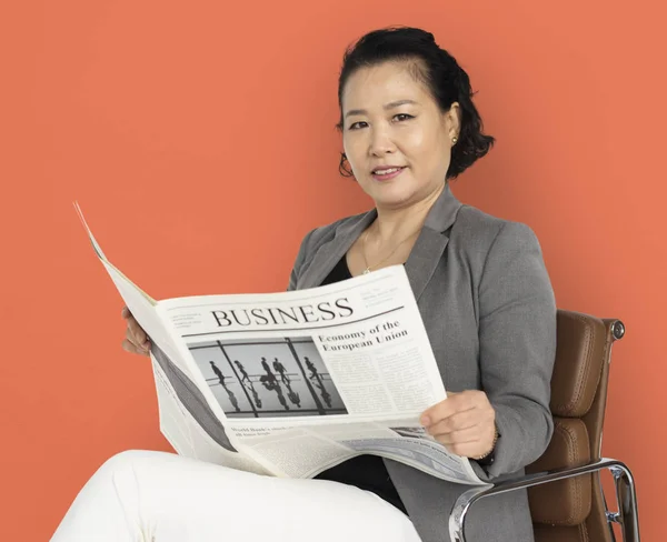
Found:
<path fill-rule="evenodd" d="M 374 209 L 310 231 L 289 289 L 319 285 L 376 217 Z M 446 187 L 405 265 L 445 389 L 484 390 L 496 410 L 495 462 L 474 466 L 487 480 L 521 473 L 554 429 L 556 304 L 535 233 L 461 204 Z M 467 488 L 385 463 L 424 542 L 449 541 L 449 511 Z M 479 501 L 466 525 L 471 541 L 534 540 L 525 491 Z"/>

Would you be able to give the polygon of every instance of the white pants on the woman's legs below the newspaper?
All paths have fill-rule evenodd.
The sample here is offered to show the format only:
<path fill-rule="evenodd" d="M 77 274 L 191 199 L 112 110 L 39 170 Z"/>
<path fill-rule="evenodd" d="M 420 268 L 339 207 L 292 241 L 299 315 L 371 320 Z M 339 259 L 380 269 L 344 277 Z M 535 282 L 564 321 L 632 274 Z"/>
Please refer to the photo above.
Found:
<path fill-rule="evenodd" d="M 379 496 L 325 480 L 260 476 L 129 451 L 83 486 L 51 542 L 419 542 Z"/>

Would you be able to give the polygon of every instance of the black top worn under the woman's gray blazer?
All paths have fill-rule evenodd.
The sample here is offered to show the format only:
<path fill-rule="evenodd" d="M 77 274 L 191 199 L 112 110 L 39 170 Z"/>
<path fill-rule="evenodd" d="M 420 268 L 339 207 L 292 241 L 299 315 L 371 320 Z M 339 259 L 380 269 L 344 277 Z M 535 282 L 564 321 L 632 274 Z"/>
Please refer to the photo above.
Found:
<path fill-rule="evenodd" d="M 322 281 L 322 285 L 351 278 L 352 275 L 347 267 L 346 258 L 342 257 L 329 275 Z M 408 513 L 398 495 L 398 491 L 396 491 L 394 482 L 389 478 L 389 472 L 387 472 L 382 458 L 378 455 L 357 455 L 321 472 L 316 478 L 356 485 L 362 490 L 371 491 L 388 503 L 394 504 L 405 514 Z"/>

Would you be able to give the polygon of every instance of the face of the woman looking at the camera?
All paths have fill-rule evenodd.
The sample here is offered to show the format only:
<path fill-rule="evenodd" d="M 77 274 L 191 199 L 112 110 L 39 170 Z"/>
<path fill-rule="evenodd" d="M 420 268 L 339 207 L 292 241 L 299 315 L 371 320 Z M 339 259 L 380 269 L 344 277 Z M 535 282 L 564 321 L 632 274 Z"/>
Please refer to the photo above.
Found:
<path fill-rule="evenodd" d="M 356 71 L 342 93 L 342 145 L 378 208 L 399 209 L 439 190 L 458 136 L 458 103 L 442 113 L 405 62 Z M 382 171 L 400 168 L 398 171 Z"/>

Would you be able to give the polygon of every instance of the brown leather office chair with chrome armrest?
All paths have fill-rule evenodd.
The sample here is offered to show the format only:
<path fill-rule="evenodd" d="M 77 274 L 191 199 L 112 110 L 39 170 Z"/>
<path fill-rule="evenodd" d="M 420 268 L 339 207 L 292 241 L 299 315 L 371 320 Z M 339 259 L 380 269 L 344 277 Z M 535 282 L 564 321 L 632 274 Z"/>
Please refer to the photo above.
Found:
<path fill-rule="evenodd" d="M 527 474 L 492 486 L 472 488 L 449 516 L 452 542 L 465 542 L 465 520 L 479 499 L 528 488 L 536 542 L 615 542 L 619 523 L 626 542 L 639 541 L 637 498 L 629 469 L 600 458 L 611 345 L 621 339 L 620 320 L 558 311 L 557 351 L 551 379 L 554 436 Z M 609 512 L 599 473 L 616 483 L 618 512 Z"/>

